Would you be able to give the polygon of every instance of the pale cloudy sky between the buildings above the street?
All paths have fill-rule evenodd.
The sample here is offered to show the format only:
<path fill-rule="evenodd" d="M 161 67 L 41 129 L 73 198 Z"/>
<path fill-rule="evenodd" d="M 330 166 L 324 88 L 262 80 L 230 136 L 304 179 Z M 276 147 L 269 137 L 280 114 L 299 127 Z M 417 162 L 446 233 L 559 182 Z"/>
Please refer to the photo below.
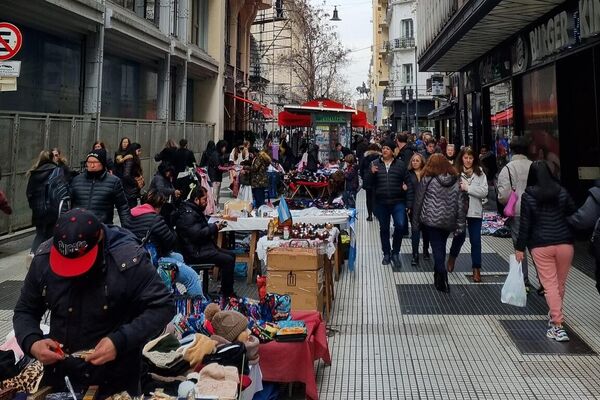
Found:
<path fill-rule="evenodd" d="M 314 4 L 322 4 L 323 0 L 311 0 Z M 340 22 L 330 22 L 340 35 L 342 44 L 357 50 L 350 53 L 350 62 L 342 72 L 355 99 L 359 98 L 356 87 L 363 82 L 368 85 L 369 64 L 371 63 L 371 46 L 373 44 L 372 0 L 327 0 L 325 10 L 333 14 L 333 6 L 337 5 Z"/>

